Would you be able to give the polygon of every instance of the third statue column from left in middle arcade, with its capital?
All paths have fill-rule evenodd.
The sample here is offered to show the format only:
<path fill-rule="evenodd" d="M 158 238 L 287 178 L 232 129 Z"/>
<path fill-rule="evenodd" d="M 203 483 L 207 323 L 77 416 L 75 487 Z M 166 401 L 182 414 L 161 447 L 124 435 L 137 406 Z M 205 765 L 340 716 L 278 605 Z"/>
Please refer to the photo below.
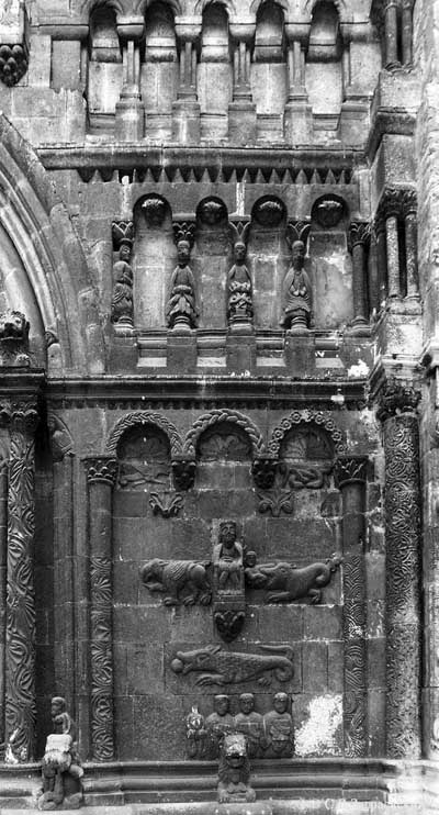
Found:
<path fill-rule="evenodd" d="M 227 275 L 227 319 L 232 331 L 248 333 L 254 316 L 251 276 L 246 266 L 250 222 L 230 223 L 234 241 L 234 265 Z"/>

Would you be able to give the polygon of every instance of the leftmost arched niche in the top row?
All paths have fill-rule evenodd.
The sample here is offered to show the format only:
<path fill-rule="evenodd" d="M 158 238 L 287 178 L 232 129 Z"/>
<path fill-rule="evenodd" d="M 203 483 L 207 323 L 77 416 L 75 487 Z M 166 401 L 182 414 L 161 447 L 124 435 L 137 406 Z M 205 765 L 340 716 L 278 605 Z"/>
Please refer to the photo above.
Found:
<path fill-rule="evenodd" d="M 87 102 L 92 130 L 109 127 L 123 83 L 121 45 L 113 9 L 98 7 L 90 16 Z"/>

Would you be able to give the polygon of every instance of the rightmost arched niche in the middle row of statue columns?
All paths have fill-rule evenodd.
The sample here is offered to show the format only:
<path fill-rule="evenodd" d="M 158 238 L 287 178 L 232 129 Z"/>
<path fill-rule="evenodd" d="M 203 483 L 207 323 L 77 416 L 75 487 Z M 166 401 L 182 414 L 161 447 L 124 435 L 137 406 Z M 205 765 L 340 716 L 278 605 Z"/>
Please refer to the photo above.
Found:
<path fill-rule="evenodd" d="M 346 327 L 353 317 L 352 260 L 347 239 L 348 210 L 338 196 L 318 198 L 308 239 L 315 327 Z"/>

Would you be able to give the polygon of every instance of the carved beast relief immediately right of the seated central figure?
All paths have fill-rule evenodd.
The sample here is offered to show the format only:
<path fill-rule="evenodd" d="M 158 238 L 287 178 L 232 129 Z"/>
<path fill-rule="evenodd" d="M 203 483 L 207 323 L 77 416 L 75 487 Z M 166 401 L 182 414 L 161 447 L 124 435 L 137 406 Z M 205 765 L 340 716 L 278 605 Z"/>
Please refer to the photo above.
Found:
<path fill-rule="evenodd" d="M 301 599 L 319 603 L 322 589 L 329 583 L 341 561 L 339 555 L 333 555 L 323 562 L 302 568 L 289 562 L 257 565 L 255 552 L 248 552 L 245 578 L 249 588 L 267 591 L 266 603 L 292 603 Z"/>

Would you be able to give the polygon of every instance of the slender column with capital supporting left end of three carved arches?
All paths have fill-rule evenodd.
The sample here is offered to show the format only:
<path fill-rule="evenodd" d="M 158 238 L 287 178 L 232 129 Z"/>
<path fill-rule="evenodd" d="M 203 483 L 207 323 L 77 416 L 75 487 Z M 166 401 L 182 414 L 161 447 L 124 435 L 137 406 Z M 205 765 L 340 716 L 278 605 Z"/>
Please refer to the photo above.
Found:
<path fill-rule="evenodd" d="M 90 517 L 91 748 L 95 761 L 114 758 L 113 587 L 111 501 L 117 465 L 100 456 L 86 461 Z"/>

